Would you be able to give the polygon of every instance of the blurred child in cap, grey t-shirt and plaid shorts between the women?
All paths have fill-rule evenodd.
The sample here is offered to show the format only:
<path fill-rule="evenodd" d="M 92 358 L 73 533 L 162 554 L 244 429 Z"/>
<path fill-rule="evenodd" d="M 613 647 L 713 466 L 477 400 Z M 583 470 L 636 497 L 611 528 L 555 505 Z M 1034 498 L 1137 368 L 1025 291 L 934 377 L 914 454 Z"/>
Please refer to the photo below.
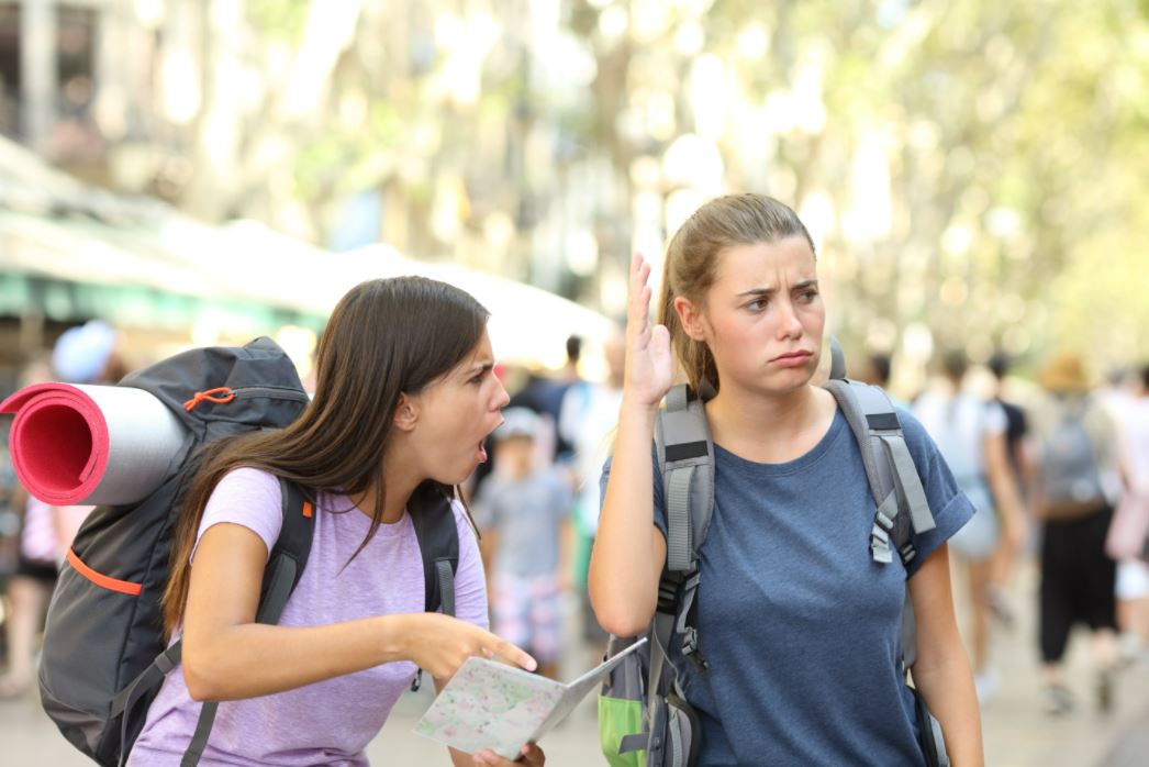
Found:
<path fill-rule="evenodd" d="M 571 489 L 550 466 L 535 460 L 539 416 L 503 411 L 495 431 L 496 469 L 475 499 L 491 583 L 494 631 L 557 675 L 562 649 L 560 597 L 570 572 Z"/>

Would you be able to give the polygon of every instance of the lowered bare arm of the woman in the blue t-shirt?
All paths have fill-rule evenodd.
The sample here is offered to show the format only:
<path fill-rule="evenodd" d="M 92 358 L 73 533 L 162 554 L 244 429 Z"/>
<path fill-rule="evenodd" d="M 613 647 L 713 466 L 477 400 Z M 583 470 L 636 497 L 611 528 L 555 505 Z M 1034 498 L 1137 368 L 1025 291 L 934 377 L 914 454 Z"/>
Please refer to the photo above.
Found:
<path fill-rule="evenodd" d="M 947 546 L 921 563 L 909 589 L 918 624 L 913 684 L 941 724 L 954 767 L 981 767 L 981 718 L 973 670 L 954 616 Z"/>

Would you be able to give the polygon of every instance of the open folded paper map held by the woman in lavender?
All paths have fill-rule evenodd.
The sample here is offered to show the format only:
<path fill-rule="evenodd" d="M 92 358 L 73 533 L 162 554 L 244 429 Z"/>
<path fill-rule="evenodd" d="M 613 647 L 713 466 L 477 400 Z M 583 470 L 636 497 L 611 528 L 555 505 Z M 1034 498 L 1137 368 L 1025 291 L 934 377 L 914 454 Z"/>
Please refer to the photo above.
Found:
<path fill-rule="evenodd" d="M 415 731 L 465 753 L 491 749 L 504 759 L 515 759 L 524 744 L 538 742 L 610 669 L 643 644 L 645 637 L 565 684 L 485 658 L 469 658 Z"/>

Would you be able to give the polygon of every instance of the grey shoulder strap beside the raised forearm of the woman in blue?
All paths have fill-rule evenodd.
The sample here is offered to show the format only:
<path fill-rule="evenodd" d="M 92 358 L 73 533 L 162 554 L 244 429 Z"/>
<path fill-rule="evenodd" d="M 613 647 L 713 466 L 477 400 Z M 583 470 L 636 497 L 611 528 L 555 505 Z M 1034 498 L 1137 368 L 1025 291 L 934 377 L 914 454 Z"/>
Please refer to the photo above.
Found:
<path fill-rule="evenodd" d="M 666 393 L 655 452 L 666 504 L 666 569 L 695 569 L 714 514 L 715 451 L 701 397 L 686 384 Z"/>

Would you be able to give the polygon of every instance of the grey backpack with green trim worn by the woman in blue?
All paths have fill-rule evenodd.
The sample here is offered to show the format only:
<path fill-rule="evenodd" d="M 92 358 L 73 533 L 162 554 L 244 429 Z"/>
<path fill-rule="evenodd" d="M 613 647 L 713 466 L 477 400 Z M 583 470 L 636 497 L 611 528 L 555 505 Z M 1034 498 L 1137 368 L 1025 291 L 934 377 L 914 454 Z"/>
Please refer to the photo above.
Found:
<path fill-rule="evenodd" d="M 897 413 L 881 389 L 846 377 L 836 340 L 831 342 L 831 354 L 833 365 L 824 386 L 834 396 L 857 439 L 877 508 L 869 540 L 871 557 L 888 565 L 896 552 L 909 566 L 917 555 L 913 534 L 932 530 L 934 520 Z M 658 412 L 655 450 L 666 500 L 666 566 L 658 582 L 654 620 L 641 635 L 649 638 L 647 646 L 611 672 L 599 696 L 599 737 L 612 767 L 692 767 L 697 761 L 701 731 L 686 701 L 681 677 L 707 670 L 695 598 L 699 552 L 714 513 L 714 440 L 704 409 L 714 391 L 705 383 L 701 389 L 700 397 L 685 384 L 674 386 Z M 611 636 L 607 657 L 639 638 Z M 693 668 L 676 667 L 671 659 L 676 645 Z M 907 584 L 902 672 L 908 685 L 916 659 L 917 626 Z M 925 764 L 948 767 L 941 728 L 916 690 L 913 698 Z"/>

